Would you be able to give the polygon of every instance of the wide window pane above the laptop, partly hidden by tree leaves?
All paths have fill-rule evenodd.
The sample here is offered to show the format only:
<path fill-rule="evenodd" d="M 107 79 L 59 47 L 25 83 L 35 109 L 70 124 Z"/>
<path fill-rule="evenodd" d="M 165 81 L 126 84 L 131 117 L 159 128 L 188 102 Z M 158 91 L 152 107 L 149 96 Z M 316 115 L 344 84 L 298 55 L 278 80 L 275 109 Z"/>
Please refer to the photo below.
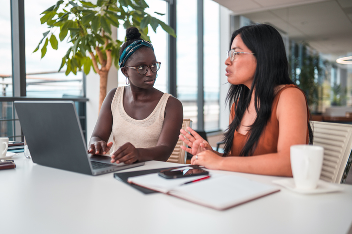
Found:
<path fill-rule="evenodd" d="M 25 43 L 26 43 L 26 83 L 27 96 L 30 97 L 67 97 L 83 96 L 83 72 L 77 75 L 65 75 L 64 66 L 58 73 L 62 57 L 65 56 L 70 44 L 67 38 L 62 42 L 58 39 L 59 31 L 53 33 L 59 41 L 58 49 L 54 50 L 50 43 L 47 53 L 41 58 L 39 50 L 33 53 L 43 32 L 48 31 L 46 24 L 40 24 L 40 13 L 54 5 L 57 0 L 25 0 Z"/>

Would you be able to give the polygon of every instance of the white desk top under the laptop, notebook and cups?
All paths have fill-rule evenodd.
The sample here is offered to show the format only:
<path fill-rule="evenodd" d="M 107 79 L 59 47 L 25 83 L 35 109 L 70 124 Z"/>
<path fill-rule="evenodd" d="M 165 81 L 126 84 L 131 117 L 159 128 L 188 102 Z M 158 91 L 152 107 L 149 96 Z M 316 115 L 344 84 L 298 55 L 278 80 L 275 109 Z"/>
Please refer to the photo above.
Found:
<path fill-rule="evenodd" d="M 144 195 L 113 178 L 34 164 L 14 156 L 16 169 L 0 171 L 1 234 L 246 233 L 346 234 L 352 224 L 352 186 L 343 192 L 280 192 L 226 211 L 161 193 Z M 125 170 L 173 166 L 151 161 Z M 278 177 L 234 173 L 270 183 Z"/>

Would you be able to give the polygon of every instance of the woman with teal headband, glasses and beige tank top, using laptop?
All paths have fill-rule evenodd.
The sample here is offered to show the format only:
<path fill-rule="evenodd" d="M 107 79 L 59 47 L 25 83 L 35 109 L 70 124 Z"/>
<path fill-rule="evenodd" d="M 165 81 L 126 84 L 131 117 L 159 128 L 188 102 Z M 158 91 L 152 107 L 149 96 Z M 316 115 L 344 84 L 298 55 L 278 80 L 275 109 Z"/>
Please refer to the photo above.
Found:
<path fill-rule="evenodd" d="M 126 39 L 119 65 L 128 86 L 106 95 L 88 153 L 106 154 L 114 146 L 111 162 L 166 161 L 182 126 L 182 104 L 153 87 L 161 63 L 152 44 L 134 27 L 126 30 Z M 111 132 L 114 142 L 107 142 Z"/>

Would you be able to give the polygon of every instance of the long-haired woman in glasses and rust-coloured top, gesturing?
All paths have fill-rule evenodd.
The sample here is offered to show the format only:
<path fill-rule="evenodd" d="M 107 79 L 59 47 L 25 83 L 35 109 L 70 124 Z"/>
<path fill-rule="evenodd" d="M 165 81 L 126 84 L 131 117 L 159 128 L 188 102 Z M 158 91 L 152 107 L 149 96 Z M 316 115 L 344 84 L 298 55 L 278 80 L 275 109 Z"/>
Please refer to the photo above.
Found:
<path fill-rule="evenodd" d="M 230 120 L 224 154 L 189 128 L 179 138 L 192 164 L 208 169 L 292 176 L 290 146 L 313 142 L 305 94 L 289 78 L 280 33 L 269 25 L 233 32 L 226 76 Z M 185 137 L 184 137 L 185 136 Z"/>

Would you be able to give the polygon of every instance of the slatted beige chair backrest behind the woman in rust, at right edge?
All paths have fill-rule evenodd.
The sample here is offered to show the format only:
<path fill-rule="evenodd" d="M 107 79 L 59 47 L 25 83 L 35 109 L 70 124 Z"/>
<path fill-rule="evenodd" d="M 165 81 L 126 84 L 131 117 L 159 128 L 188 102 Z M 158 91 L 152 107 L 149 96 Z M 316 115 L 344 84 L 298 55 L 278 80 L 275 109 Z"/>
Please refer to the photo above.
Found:
<path fill-rule="evenodd" d="M 352 163 L 352 125 L 311 121 L 314 145 L 324 147 L 320 179 L 345 183 Z"/>

